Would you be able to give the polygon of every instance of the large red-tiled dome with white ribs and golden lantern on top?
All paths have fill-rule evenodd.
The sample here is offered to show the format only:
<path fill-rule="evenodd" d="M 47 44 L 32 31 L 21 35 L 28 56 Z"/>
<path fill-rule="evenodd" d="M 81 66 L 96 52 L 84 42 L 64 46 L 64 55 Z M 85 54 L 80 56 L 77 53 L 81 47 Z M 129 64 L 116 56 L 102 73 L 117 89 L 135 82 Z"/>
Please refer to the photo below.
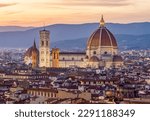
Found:
<path fill-rule="evenodd" d="M 90 36 L 87 48 L 98 48 L 102 46 L 117 48 L 117 42 L 114 35 L 105 27 L 105 22 L 102 16 L 100 27 Z"/>

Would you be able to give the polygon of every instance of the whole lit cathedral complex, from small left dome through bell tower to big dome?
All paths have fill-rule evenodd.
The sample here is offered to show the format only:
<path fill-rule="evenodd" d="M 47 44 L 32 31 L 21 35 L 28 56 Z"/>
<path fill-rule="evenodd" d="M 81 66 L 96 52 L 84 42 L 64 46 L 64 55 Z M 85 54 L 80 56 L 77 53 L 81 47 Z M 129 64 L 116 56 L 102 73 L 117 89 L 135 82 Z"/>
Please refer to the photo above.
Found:
<path fill-rule="evenodd" d="M 36 44 L 29 48 L 24 57 L 26 64 L 36 67 L 121 67 L 123 59 L 118 53 L 114 35 L 106 28 L 103 16 L 100 25 L 89 37 L 85 52 L 64 52 L 59 48 L 50 49 L 50 32 L 40 31 L 39 50 Z"/>

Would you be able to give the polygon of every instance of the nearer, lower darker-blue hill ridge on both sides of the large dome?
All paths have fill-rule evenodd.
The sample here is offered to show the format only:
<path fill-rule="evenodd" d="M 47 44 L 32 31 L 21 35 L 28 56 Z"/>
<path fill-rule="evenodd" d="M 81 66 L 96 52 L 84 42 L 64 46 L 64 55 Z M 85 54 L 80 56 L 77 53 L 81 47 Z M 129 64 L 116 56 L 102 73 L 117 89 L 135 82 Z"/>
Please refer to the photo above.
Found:
<path fill-rule="evenodd" d="M 119 50 L 150 49 L 150 34 L 148 35 L 115 35 Z M 52 42 L 52 47 L 62 50 L 85 50 L 88 38 Z"/>

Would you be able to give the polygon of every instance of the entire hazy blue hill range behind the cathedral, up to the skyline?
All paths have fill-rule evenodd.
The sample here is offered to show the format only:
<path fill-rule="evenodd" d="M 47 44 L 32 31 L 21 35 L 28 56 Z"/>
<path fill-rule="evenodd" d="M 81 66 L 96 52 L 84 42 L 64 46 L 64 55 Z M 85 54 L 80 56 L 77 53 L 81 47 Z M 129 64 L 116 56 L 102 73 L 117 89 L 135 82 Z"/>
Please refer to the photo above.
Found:
<path fill-rule="evenodd" d="M 150 23 L 117 24 L 108 23 L 107 28 L 116 35 L 119 46 L 128 49 L 150 48 Z M 98 23 L 87 24 L 55 24 L 47 26 L 50 30 L 51 47 L 62 49 L 83 49 L 87 38 L 99 27 Z M 1 27 L 0 27 L 1 28 Z M 39 44 L 39 30 L 37 27 L 25 31 L 0 32 L 0 47 L 28 48 L 34 38 Z M 70 44 L 70 45 L 69 45 Z M 140 48 L 139 48 L 140 46 Z"/>

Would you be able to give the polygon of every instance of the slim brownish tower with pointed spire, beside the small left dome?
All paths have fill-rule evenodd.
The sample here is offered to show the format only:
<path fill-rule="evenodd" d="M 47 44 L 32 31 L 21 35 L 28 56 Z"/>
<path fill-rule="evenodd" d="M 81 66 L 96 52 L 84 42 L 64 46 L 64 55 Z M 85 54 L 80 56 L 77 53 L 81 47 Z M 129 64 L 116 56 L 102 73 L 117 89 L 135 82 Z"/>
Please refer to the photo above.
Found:
<path fill-rule="evenodd" d="M 37 53 L 37 48 L 36 48 L 36 43 L 34 40 L 33 44 L 33 50 L 32 50 L 32 68 L 38 67 L 38 53 Z"/>

